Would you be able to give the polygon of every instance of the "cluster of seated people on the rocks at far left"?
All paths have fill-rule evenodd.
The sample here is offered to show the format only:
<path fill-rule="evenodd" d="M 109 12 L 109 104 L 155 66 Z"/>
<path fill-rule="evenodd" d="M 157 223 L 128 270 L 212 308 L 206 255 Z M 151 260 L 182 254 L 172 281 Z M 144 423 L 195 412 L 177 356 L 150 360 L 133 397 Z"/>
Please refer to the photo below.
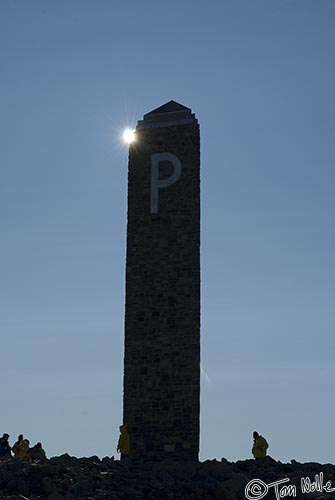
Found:
<path fill-rule="evenodd" d="M 36 443 L 35 446 L 30 448 L 28 439 L 24 439 L 23 434 L 20 434 L 16 443 L 10 446 L 9 434 L 5 432 L 0 438 L 0 460 L 11 458 L 12 453 L 14 453 L 14 458 L 27 458 L 30 462 L 45 462 L 47 460 L 42 443 Z"/>

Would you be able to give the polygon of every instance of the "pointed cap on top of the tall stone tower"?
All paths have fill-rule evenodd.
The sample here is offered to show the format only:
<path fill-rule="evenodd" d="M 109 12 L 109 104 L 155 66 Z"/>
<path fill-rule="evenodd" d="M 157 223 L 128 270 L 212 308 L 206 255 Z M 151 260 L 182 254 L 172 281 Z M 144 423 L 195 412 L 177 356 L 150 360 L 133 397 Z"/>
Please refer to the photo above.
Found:
<path fill-rule="evenodd" d="M 137 123 L 136 129 L 170 127 L 190 123 L 197 123 L 192 110 L 176 101 L 169 101 L 145 114 L 143 120 Z"/>

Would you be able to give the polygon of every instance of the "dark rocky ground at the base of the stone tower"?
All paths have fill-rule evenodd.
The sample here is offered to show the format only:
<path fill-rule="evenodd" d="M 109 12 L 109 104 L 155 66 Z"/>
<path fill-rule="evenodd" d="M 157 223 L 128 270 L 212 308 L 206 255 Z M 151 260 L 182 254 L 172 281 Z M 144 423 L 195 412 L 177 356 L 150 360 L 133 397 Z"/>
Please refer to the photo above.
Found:
<path fill-rule="evenodd" d="M 271 486 L 278 481 L 283 482 Z M 224 458 L 220 462 L 202 463 L 126 463 L 108 457 L 100 460 L 62 455 L 45 464 L 30 464 L 24 459 L 0 462 L 0 499 L 6 500 L 279 500 L 290 497 L 335 500 L 335 466 L 294 460 L 283 464 L 271 457 L 234 463 Z"/>

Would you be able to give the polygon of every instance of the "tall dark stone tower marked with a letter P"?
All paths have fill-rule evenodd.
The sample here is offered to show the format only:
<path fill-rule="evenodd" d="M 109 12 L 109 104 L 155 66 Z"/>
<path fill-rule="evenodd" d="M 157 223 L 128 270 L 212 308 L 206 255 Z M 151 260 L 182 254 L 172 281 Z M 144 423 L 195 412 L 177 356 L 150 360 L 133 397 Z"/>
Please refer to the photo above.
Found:
<path fill-rule="evenodd" d="M 129 146 L 124 424 L 133 456 L 198 460 L 200 139 L 170 101 Z"/>

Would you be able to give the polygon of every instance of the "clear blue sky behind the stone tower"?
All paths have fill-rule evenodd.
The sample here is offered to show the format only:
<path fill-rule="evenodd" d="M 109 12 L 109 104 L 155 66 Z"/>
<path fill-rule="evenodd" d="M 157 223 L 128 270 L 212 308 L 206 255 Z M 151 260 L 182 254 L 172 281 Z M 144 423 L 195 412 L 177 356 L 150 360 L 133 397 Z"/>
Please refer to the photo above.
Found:
<path fill-rule="evenodd" d="M 116 455 L 126 126 L 201 126 L 201 459 L 334 462 L 332 0 L 1 0 L 0 433 Z"/>

